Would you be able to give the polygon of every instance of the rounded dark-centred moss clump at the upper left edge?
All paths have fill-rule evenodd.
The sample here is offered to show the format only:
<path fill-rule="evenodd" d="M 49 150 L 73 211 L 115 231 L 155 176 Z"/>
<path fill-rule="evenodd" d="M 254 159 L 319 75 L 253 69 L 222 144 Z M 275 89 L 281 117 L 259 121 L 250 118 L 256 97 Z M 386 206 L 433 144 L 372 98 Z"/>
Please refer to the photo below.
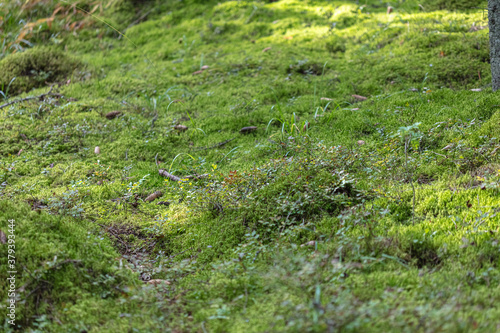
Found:
<path fill-rule="evenodd" d="M 80 62 L 47 47 L 12 54 L 0 62 L 0 90 L 10 95 L 28 92 L 69 77 Z"/>

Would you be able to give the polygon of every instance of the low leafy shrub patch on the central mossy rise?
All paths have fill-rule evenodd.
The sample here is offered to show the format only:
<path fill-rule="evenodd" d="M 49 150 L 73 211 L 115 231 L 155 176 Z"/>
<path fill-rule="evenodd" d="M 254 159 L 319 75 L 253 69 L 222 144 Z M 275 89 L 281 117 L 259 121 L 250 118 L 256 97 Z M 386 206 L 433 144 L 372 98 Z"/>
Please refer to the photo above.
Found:
<path fill-rule="evenodd" d="M 181 196 L 195 212 L 243 216 L 245 223 L 257 229 L 275 216 L 294 224 L 333 214 L 361 200 L 363 194 L 354 188 L 351 176 L 337 169 L 342 165 L 342 151 L 325 154 L 319 146 L 310 147 L 309 152 L 307 158 L 280 158 L 247 172 L 230 171 L 227 176 L 214 166 L 208 180 L 183 181 Z"/>

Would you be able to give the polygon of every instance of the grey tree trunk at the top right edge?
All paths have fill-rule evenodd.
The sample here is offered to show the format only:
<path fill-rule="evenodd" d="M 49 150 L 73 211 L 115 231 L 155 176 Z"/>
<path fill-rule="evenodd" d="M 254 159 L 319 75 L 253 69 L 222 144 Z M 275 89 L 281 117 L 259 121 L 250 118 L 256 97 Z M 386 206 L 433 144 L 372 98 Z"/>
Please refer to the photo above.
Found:
<path fill-rule="evenodd" d="M 490 64 L 493 91 L 500 89 L 500 0 L 488 0 Z"/>

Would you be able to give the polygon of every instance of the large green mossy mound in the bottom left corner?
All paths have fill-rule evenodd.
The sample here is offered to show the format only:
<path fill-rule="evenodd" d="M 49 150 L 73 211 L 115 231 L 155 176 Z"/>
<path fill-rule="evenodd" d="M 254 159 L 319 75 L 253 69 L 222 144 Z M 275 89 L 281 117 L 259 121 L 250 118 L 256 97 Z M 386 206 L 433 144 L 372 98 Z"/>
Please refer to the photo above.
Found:
<path fill-rule="evenodd" d="M 12 233 L 9 220 L 14 221 Z M 109 307 L 134 282 L 130 270 L 117 268 L 114 258 L 118 254 L 109 241 L 89 233 L 92 225 L 88 222 L 31 211 L 28 205 L 7 201 L 0 201 L 0 221 L 0 229 L 9 240 L 15 240 L 0 244 L 0 263 L 3 268 L 9 264 L 2 276 L 7 270 L 17 271 L 13 274 L 17 328 L 40 318 L 61 318 L 62 313 L 65 318 L 68 314 L 79 318 L 82 304 Z M 12 244 L 13 253 L 8 248 Z M 15 257 L 15 263 L 7 262 L 12 259 L 8 254 Z M 0 281 L 2 299 L 10 293 L 9 282 Z M 7 313 L 7 305 L 2 302 L 2 312 Z"/>

